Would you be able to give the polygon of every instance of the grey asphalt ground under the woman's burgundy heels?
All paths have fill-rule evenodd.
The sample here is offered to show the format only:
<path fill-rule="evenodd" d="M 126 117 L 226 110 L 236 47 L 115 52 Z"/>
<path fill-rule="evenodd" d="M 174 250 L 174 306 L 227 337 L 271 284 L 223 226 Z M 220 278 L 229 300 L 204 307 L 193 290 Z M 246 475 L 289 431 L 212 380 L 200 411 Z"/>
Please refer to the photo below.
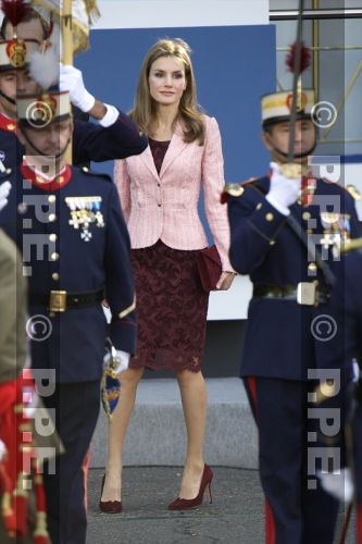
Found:
<path fill-rule="evenodd" d="M 124 509 L 122 514 L 112 515 L 99 511 L 102 471 L 90 470 L 87 544 L 263 544 L 264 498 L 258 472 L 215 466 L 212 470 L 213 504 L 209 505 L 204 497 L 197 510 L 173 512 L 166 507 L 178 492 L 182 469 L 126 468 Z M 342 516 L 341 508 L 337 534 L 340 534 Z M 353 512 L 345 544 L 355 542 L 354 523 Z"/>

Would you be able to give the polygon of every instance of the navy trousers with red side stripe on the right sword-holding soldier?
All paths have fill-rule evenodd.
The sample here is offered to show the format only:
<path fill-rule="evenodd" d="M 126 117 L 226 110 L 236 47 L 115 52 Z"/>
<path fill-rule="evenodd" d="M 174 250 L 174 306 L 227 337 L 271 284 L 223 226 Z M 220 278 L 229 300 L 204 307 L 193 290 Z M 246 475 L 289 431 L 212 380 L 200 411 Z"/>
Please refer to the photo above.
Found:
<path fill-rule="evenodd" d="M 267 544 L 333 544 L 338 502 L 311 470 L 315 421 L 308 418 L 302 381 L 245 378 L 259 431 L 259 470 L 265 495 Z"/>

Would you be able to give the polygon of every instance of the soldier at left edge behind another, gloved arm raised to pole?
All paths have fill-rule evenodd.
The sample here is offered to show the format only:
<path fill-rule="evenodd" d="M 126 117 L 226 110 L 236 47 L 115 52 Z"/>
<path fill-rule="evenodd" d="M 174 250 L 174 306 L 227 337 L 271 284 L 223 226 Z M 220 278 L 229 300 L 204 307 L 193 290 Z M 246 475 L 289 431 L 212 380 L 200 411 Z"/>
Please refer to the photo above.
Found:
<path fill-rule="evenodd" d="M 16 94 L 35 94 L 39 86 L 27 71 L 29 57 L 40 46 L 36 40 L 10 39 L 0 42 L 0 172 L 20 164 L 24 148 L 16 137 Z M 102 162 L 141 153 L 147 137 L 136 124 L 113 106 L 96 100 L 85 88 L 82 73 L 61 67 L 63 90 L 71 100 L 99 120 L 99 124 L 74 121 L 73 162 Z"/>

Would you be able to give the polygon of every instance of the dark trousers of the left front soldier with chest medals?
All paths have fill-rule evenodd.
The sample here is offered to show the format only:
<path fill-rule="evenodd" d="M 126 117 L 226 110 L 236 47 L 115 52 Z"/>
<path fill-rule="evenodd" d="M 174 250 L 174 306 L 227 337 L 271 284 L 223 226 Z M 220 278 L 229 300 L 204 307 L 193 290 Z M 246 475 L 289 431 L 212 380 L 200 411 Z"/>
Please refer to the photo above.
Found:
<path fill-rule="evenodd" d="M 43 397 L 54 409 L 55 429 L 65 453 L 55 459 L 55 473 L 46 463 L 43 483 L 47 519 L 52 544 L 85 544 L 87 512 L 83 463 L 97 424 L 100 383 L 57 384 L 54 394 Z"/>

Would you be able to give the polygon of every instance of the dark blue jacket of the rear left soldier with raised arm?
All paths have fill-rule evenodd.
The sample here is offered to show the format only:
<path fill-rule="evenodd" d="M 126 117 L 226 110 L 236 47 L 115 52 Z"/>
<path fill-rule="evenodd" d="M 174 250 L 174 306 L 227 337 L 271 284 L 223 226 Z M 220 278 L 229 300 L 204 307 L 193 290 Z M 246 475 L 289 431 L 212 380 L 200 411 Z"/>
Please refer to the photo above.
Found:
<path fill-rule="evenodd" d="M 5 169 L 14 169 L 23 159 L 24 148 L 15 131 L 16 123 L 0 113 L 0 161 Z M 115 123 L 107 128 L 95 123 L 74 120 L 74 164 L 125 159 L 141 153 L 147 146 L 147 137 L 122 112 Z"/>

